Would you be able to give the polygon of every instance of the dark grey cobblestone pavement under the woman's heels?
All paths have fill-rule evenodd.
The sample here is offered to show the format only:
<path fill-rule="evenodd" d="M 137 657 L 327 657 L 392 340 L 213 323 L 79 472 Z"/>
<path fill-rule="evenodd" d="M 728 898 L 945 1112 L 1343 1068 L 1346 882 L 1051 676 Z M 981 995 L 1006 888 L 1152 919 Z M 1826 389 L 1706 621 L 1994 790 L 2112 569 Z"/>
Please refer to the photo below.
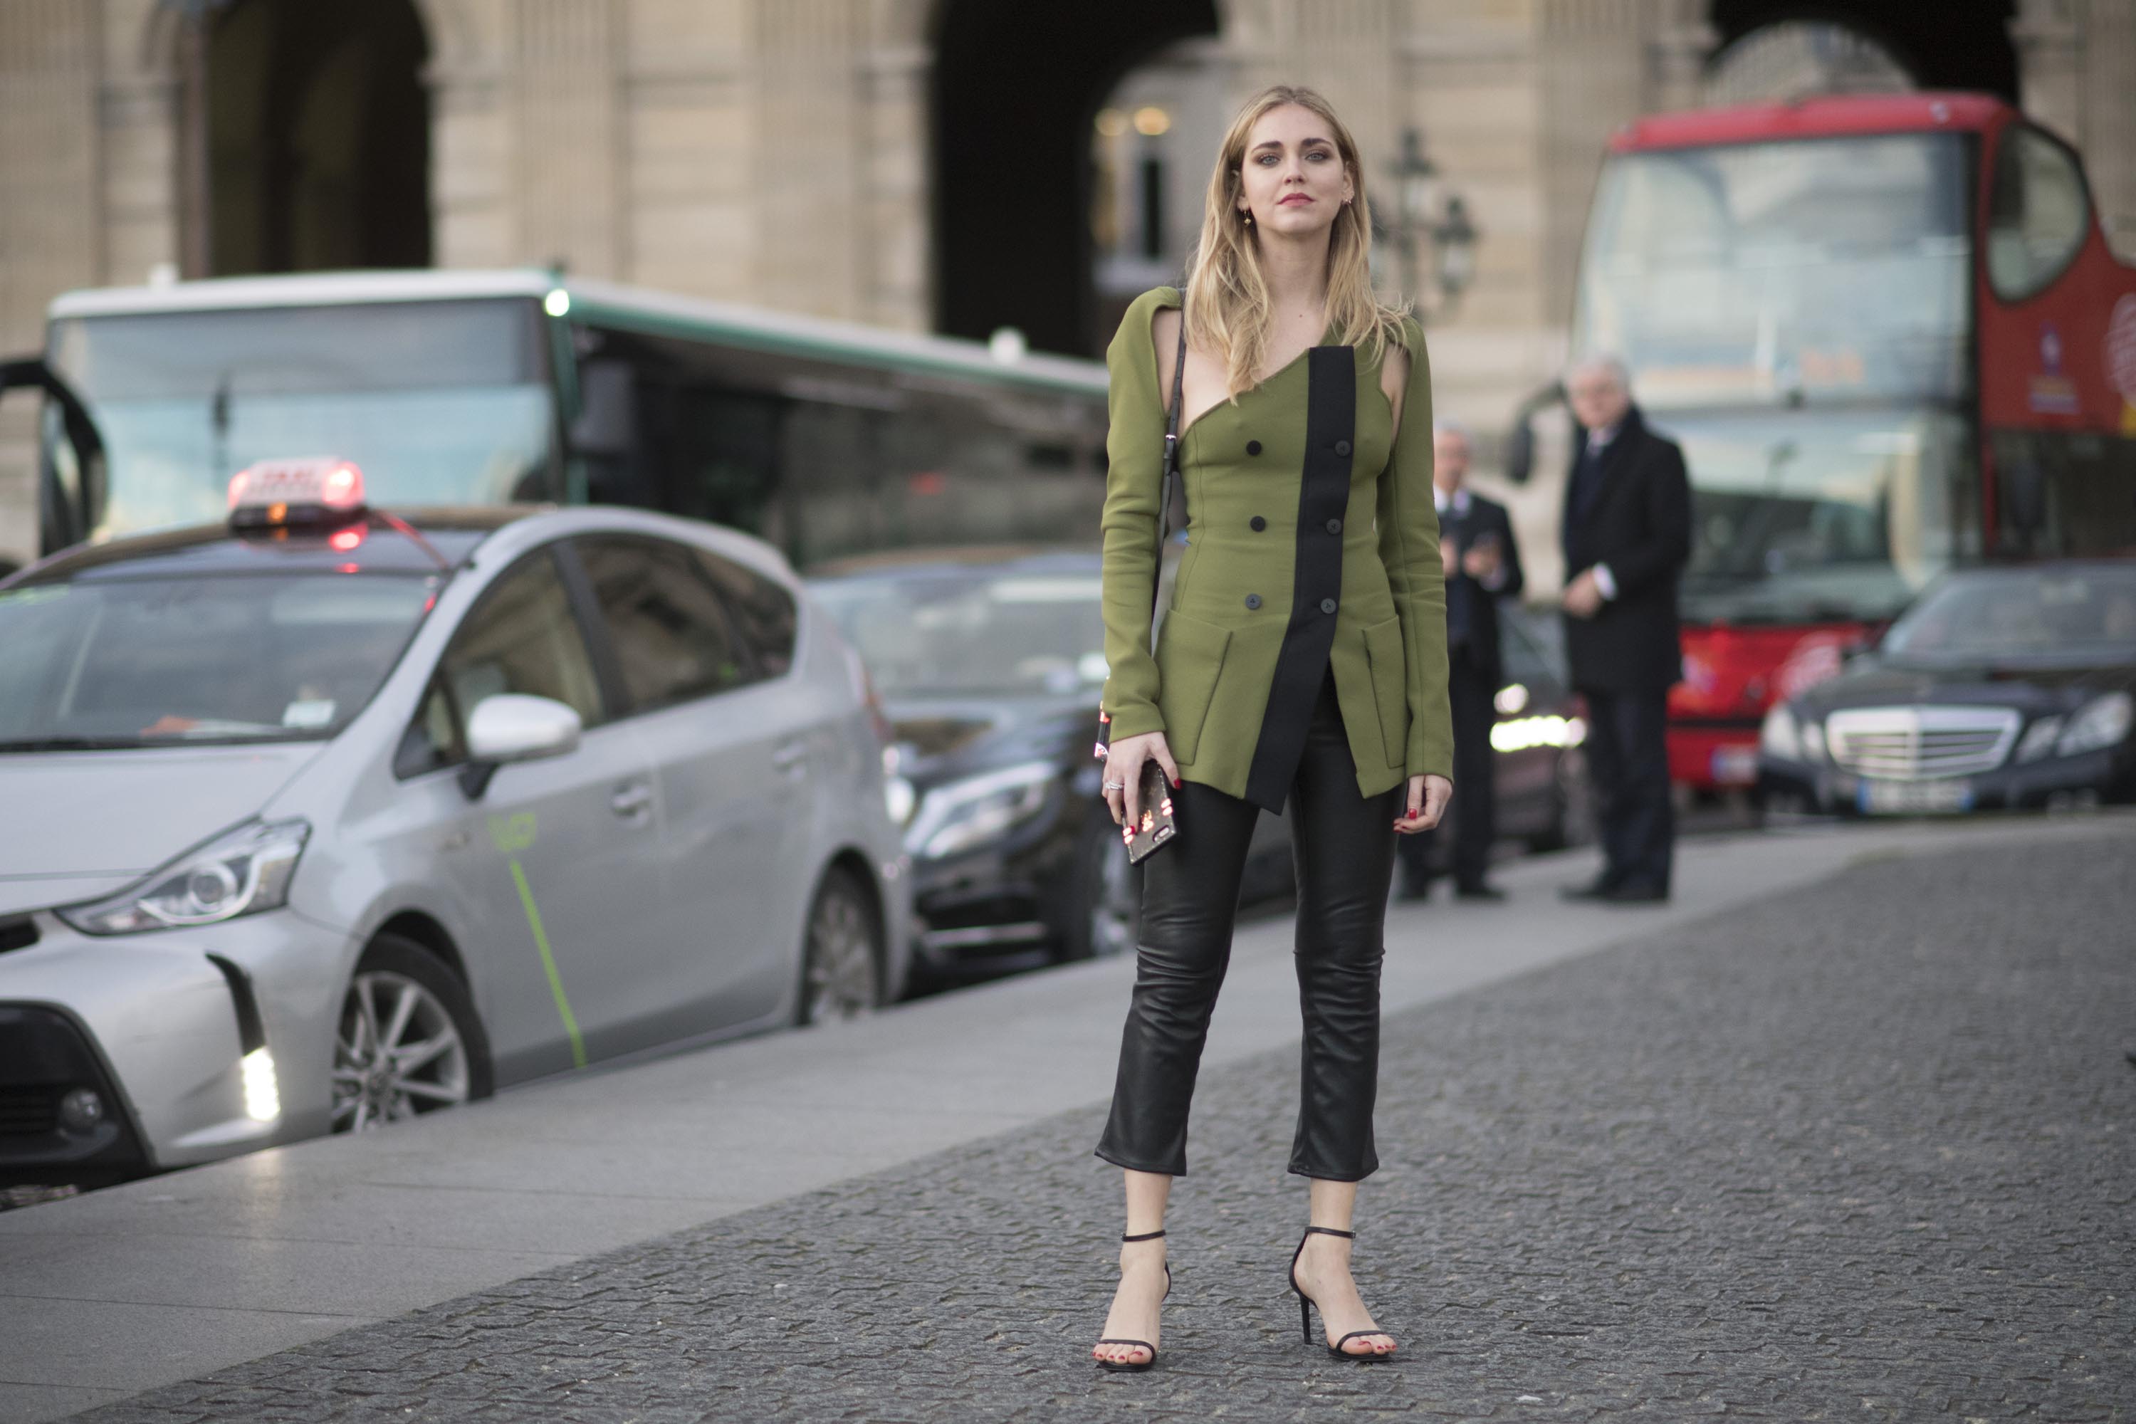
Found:
<path fill-rule="evenodd" d="M 1297 1336 L 1284 1053 L 1203 1085 L 1147 1375 L 1085 1358 L 1094 1106 L 77 1418 L 2136 1418 L 2132 850 L 1863 865 L 1388 1020 L 1395 1364 Z"/>

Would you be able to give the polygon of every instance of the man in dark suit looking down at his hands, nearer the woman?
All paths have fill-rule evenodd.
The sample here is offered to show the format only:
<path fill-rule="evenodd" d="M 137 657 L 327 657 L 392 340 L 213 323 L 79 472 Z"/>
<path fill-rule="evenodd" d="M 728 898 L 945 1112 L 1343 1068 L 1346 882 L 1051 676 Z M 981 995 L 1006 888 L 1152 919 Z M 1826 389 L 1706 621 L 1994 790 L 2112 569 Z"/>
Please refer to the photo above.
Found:
<path fill-rule="evenodd" d="M 1446 700 L 1455 724 L 1455 895 L 1506 899 L 1487 882 L 1497 833 L 1491 724 L 1504 668 L 1497 655 L 1497 600 L 1521 596 L 1521 549 L 1504 504 L 1467 487 L 1470 438 L 1450 421 L 1431 427 L 1431 500 L 1440 508 L 1440 559 L 1446 566 Z M 1438 830 L 1405 835 L 1401 899 L 1431 895 L 1431 841 Z"/>

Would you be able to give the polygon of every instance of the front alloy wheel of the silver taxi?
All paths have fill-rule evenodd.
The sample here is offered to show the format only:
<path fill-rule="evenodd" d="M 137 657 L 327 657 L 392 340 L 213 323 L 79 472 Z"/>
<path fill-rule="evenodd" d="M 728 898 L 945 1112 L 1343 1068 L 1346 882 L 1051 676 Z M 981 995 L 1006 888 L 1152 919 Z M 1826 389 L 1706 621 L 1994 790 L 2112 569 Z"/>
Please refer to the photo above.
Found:
<path fill-rule="evenodd" d="M 470 1095 L 468 1044 L 438 995 L 393 969 L 359 969 L 333 1038 L 333 1129 L 365 1132 Z"/>

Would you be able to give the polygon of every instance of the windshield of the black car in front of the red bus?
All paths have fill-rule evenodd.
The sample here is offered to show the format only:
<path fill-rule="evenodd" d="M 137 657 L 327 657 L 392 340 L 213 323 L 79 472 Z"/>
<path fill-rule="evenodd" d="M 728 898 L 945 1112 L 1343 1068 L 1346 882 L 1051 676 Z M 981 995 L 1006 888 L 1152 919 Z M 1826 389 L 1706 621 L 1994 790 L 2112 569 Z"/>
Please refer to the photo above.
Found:
<path fill-rule="evenodd" d="M 1895 662 L 2136 662 L 2136 566 L 1952 574 L 1878 651 Z"/>

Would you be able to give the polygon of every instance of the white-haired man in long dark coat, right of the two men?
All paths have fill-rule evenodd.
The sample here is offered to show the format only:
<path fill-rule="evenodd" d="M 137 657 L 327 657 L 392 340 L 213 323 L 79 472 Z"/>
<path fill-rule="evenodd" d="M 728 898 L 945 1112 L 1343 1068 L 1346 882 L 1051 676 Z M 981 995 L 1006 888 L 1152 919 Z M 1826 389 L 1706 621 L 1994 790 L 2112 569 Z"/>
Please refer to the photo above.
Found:
<path fill-rule="evenodd" d="M 1668 690 L 1683 677 L 1677 579 L 1692 557 L 1683 450 L 1647 429 L 1613 357 L 1566 376 L 1581 425 L 1566 480 L 1566 660 L 1587 700 L 1602 875 L 1574 899 L 1668 899 Z M 1461 784 L 1455 781 L 1455 794 Z"/>

